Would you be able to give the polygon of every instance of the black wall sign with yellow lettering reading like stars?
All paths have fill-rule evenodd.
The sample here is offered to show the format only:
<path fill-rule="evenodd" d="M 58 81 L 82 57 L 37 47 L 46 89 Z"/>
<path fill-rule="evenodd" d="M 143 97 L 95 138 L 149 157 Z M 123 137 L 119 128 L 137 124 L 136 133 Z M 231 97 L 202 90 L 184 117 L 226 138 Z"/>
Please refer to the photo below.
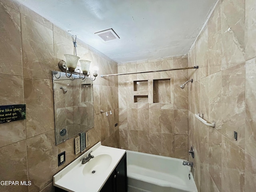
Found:
<path fill-rule="evenodd" d="M 26 104 L 0 106 L 0 123 L 26 119 Z"/>

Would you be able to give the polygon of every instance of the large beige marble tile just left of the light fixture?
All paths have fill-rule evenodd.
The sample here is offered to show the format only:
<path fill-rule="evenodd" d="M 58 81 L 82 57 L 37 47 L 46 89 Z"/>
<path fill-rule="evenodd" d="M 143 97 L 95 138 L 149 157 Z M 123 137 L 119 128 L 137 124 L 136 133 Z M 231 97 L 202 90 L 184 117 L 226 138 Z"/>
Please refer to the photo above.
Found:
<path fill-rule="evenodd" d="M 24 76 L 52 79 L 51 70 L 55 66 L 52 29 L 24 15 L 21 26 Z"/>

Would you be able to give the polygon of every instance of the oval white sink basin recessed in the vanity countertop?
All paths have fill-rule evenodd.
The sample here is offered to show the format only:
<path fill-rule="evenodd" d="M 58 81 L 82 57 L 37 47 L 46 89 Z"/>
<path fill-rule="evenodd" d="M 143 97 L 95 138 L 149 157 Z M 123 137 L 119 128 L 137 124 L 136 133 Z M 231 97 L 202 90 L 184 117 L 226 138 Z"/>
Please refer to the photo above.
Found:
<path fill-rule="evenodd" d="M 84 164 L 84 176 L 92 175 L 97 176 L 105 172 L 112 162 L 112 157 L 108 154 L 100 154 L 94 156 L 86 164 Z"/>

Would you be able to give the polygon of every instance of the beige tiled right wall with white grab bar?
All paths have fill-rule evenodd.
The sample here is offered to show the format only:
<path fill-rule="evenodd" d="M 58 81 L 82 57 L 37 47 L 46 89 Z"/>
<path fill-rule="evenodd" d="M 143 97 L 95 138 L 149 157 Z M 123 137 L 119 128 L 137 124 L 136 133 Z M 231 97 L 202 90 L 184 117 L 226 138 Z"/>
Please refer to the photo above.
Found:
<path fill-rule="evenodd" d="M 255 18 L 256 0 L 219 0 L 188 53 L 188 66 L 200 67 L 188 71 L 194 79 L 188 86 L 189 146 L 195 148 L 190 160 L 200 192 L 256 188 Z"/>

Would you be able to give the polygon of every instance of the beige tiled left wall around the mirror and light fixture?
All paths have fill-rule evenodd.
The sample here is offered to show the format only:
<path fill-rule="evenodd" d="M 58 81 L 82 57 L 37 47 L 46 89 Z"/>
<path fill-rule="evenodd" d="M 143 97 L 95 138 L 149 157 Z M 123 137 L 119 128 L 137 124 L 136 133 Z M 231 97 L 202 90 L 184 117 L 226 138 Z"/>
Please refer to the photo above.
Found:
<path fill-rule="evenodd" d="M 26 120 L 0 124 L 1 181 L 31 181 L 31 186 L 2 186 L 0 191 L 54 191 L 52 176 L 79 155 L 74 139 L 55 145 L 52 70 L 63 54 L 73 54 L 72 36 L 15 0 L 0 0 L 0 105 L 26 104 Z M 78 37 L 79 38 L 79 37 Z M 117 73 L 117 63 L 78 40 L 77 55 L 92 60 L 100 74 Z M 93 82 L 91 146 L 119 146 L 118 79 Z M 100 114 L 112 110 L 112 115 Z M 66 163 L 58 167 L 58 154 Z"/>

